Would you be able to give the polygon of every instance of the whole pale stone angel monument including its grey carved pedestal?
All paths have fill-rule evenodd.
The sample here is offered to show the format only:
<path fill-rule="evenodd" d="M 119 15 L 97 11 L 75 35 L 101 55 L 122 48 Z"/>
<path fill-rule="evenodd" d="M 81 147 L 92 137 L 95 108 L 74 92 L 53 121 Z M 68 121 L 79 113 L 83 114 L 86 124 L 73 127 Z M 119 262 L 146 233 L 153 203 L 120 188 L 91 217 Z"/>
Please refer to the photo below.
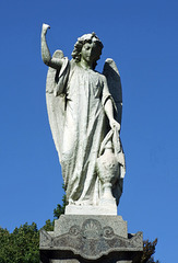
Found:
<path fill-rule="evenodd" d="M 128 235 L 117 216 L 126 173 L 119 71 L 110 58 L 103 73 L 95 70 L 103 49 L 95 33 L 78 38 L 72 60 L 61 50 L 51 57 L 48 28 L 43 24 L 46 101 L 68 205 L 54 231 L 40 231 L 40 262 L 139 262 L 142 232 Z"/>

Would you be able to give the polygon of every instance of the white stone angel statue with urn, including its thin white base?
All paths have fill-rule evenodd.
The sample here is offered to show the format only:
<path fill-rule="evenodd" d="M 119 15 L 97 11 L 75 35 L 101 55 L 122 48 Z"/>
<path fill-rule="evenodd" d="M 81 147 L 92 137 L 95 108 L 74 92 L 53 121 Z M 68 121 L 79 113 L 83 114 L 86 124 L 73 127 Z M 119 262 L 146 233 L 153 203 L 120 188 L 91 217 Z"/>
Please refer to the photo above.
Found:
<path fill-rule="evenodd" d="M 49 27 L 43 24 L 41 58 L 49 67 L 46 100 L 69 203 L 66 214 L 91 208 L 96 215 L 117 215 L 126 172 L 119 71 L 112 59 L 105 61 L 103 73 L 95 70 L 103 49 L 95 33 L 78 38 L 71 60 L 61 50 L 51 57 Z"/>

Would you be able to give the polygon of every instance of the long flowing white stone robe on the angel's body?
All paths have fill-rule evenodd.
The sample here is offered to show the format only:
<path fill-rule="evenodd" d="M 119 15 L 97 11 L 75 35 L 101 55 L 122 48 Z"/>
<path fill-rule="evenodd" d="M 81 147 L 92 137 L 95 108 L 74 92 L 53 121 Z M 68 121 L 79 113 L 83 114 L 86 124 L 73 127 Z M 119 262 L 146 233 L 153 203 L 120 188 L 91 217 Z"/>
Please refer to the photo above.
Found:
<path fill-rule="evenodd" d="M 104 76 L 80 67 L 68 66 L 63 139 L 60 141 L 62 176 L 70 204 L 97 205 L 102 195 L 96 160 L 106 135 L 104 105 L 110 93 Z"/>

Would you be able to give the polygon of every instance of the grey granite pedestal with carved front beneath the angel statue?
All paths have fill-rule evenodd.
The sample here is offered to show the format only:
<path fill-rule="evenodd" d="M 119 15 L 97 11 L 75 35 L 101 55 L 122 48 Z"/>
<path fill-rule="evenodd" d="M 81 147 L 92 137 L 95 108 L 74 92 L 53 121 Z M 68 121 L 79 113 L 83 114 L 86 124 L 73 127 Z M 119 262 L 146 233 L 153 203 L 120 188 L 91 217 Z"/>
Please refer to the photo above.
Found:
<path fill-rule="evenodd" d="M 128 235 L 120 216 L 62 215 L 40 231 L 40 263 L 139 263 L 142 232 Z"/>

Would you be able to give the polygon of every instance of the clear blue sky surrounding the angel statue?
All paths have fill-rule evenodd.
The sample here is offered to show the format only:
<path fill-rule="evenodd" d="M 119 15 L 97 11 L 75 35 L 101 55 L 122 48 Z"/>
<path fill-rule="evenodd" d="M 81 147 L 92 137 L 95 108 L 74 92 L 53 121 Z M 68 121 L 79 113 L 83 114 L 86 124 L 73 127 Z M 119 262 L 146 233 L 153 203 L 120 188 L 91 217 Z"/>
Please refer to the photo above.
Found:
<path fill-rule="evenodd" d="M 118 213 L 129 232 L 158 238 L 156 259 L 177 262 L 177 13 L 176 0 L 0 2 L 1 227 L 40 228 L 63 195 L 46 110 L 41 24 L 51 26 L 51 53 L 69 58 L 76 38 L 94 31 L 104 43 L 97 70 L 111 57 L 122 81 L 127 174 Z"/>

